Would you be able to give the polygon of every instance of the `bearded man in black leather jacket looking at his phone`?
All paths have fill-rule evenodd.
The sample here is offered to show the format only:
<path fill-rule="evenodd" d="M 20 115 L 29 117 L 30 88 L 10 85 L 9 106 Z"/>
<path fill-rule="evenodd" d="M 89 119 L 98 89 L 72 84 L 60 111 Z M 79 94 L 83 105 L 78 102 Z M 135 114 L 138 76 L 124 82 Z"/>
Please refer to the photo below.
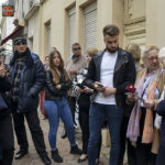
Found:
<path fill-rule="evenodd" d="M 108 120 L 111 152 L 110 165 L 117 165 L 120 152 L 120 129 L 125 105 L 125 87 L 134 84 L 135 66 L 132 55 L 119 47 L 119 29 L 103 28 L 106 50 L 91 59 L 86 84 L 95 89 L 89 112 L 90 138 L 88 165 L 96 165 L 101 125 Z"/>

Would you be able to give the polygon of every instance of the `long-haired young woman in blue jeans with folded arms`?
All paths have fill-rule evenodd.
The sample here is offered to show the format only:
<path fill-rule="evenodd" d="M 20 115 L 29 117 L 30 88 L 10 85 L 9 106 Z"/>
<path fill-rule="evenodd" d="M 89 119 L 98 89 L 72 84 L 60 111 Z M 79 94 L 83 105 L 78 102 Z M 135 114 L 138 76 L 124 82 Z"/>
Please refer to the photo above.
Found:
<path fill-rule="evenodd" d="M 59 124 L 59 118 L 62 118 L 68 140 L 70 143 L 70 154 L 81 154 L 75 142 L 74 123 L 72 119 L 70 109 L 68 107 L 66 95 L 67 90 L 72 86 L 72 81 L 64 69 L 64 61 L 58 51 L 53 51 L 50 54 L 50 70 L 45 73 L 45 101 L 44 109 L 46 111 L 50 122 L 48 141 L 52 148 L 52 158 L 62 163 L 63 158 L 58 154 L 56 147 L 56 135 Z"/>

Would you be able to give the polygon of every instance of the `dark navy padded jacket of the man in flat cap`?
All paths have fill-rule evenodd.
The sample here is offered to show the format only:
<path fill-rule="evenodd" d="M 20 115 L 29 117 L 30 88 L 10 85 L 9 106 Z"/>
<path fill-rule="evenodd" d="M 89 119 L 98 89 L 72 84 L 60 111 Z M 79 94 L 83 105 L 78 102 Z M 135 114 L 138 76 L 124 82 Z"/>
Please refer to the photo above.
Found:
<path fill-rule="evenodd" d="M 11 84 L 14 80 L 16 68 L 16 53 L 10 65 L 9 78 Z M 26 61 L 21 73 L 20 90 L 18 99 L 18 112 L 28 112 L 37 109 L 38 92 L 44 88 L 44 67 L 36 54 L 26 50 Z M 11 97 L 12 99 L 12 97 Z M 11 101 L 12 102 L 12 101 Z"/>

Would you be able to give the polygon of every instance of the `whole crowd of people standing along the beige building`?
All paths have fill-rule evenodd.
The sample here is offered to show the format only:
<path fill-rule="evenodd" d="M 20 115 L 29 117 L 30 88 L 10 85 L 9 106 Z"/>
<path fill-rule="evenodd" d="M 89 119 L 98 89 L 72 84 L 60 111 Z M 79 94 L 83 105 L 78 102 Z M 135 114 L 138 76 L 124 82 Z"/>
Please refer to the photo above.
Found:
<path fill-rule="evenodd" d="M 14 38 L 9 66 L 0 58 L 1 165 L 12 165 L 13 130 L 20 146 L 14 158 L 29 153 L 24 119 L 41 160 L 52 164 L 40 127 L 38 105 L 48 120 L 48 142 L 56 163 L 65 158 L 56 147 L 62 119 L 62 138 L 68 138 L 70 154 L 79 155 L 78 164 L 87 160 L 88 165 L 99 164 L 105 127 L 110 132 L 109 165 L 123 165 L 125 152 L 129 165 L 165 164 L 165 48 L 147 45 L 141 56 L 136 44 L 125 50 L 119 46 L 118 26 L 106 25 L 102 33 L 103 51 L 89 48 L 84 56 L 80 44 L 74 43 L 66 64 L 53 47 L 43 65 L 31 53 L 26 38 Z M 82 148 L 75 140 L 77 110 Z"/>

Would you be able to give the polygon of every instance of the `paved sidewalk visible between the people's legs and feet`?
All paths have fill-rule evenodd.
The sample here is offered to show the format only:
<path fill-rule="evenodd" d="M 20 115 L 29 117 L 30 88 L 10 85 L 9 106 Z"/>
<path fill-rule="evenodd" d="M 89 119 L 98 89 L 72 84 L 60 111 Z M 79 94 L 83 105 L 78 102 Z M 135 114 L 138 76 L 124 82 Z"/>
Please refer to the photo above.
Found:
<path fill-rule="evenodd" d="M 48 129 L 50 129 L 48 120 L 42 120 L 42 116 L 41 114 L 38 114 L 38 116 L 41 119 L 41 127 L 44 132 L 44 138 L 45 138 L 48 156 L 51 157 L 51 148 L 50 148 L 48 140 L 47 140 Z M 35 152 L 28 125 L 26 125 L 26 130 L 28 130 L 26 133 L 28 133 L 29 145 L 30 145 L 29 154 L 25 155 L 21 160 L 14 160 L 13 165 L 43 165 L 37 153 Z M 61 139 L 62 132 L 63 132 L 63 124 L 61 123 L 59 129 L 58 129 L 58 135 L 57 135 L 57 147 L 58 147 L 59 154 L 62 155 L 64 162 L 58 164 L 58 163 L 53 162 L 53 160 L 52 160 L 52 164 L 54 164 L 54 165 L 88 165 L 87 162 L 78 164 L 77 160 L 79 158 L 79 156 L 69 154 L 69 151 L 70 151 L 69 142 L 67 139 L 65 139 L 65 140 Z M 77 130 L 77 133 L 76 133 L 76 141 L 77 141 L 78 146 L 81 147 L 81 133 L 80 133 L 79 129 Z M 18 146 L 16 140 L 15 140 L 15 152 L 18 152 L 18 151 L 19 151 L 19 146 Z M 103 148 L 101 157 L 100 157 L 100 165 L 107 165 L 107 164 L 108 164 L 108 158 L 106 158 L 106 156 L 105 156 L 105 148 Z"/>

